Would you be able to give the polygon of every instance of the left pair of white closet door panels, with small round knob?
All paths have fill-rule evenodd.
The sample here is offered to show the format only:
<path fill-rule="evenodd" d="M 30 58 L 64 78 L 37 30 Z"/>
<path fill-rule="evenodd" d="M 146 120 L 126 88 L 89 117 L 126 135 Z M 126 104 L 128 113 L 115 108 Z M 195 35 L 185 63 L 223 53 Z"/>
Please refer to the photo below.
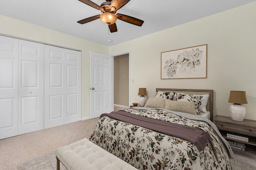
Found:
<path fill-rule="evenodd" d="M 44 45 L 0 36 L 0 139 L 44 129 Z"/>

